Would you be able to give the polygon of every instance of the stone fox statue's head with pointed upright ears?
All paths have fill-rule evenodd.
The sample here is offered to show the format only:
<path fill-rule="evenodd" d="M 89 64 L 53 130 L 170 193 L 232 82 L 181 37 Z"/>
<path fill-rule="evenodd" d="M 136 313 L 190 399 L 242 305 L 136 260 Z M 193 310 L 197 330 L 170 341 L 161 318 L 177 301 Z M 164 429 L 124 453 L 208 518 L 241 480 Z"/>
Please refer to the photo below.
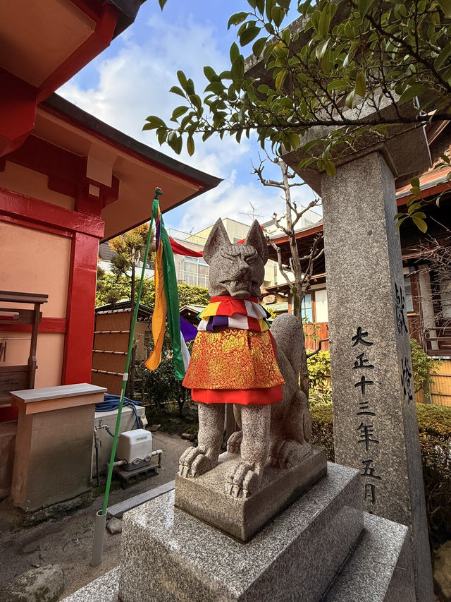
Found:
<path fill-rule="evenodd" d="M 210 296 L 258 297 L 268 260 L 268 247 L 259 222 L 254 221 L 243 244 L 233 244 L 218 219 L 205 243 L 204 260 L 210 266 Z"/>

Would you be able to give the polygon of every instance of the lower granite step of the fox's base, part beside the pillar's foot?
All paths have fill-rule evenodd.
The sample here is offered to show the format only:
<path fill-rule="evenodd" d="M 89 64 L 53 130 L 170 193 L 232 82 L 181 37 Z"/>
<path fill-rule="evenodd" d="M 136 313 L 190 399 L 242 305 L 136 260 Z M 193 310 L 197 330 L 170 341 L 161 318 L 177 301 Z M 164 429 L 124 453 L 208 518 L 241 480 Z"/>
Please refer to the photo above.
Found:
<path fill-rule="evenodd" d="M 364 525 L 359 543 L 322 602 L 412 602 L 409 529 L 366 512 Z"/>

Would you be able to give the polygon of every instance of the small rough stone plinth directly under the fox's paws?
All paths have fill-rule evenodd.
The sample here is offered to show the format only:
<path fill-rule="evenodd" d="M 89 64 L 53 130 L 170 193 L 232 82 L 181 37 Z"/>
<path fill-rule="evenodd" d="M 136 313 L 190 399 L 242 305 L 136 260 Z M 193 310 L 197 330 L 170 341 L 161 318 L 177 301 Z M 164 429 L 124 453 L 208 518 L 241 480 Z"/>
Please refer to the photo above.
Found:
<path fill-rule="evenodd" d="M 326 450 L 312 448 L 307 457 L 291 469 L 266 466 L 257 493 L 236 499 L 228 495 L 226 483 L 240 460 L 239 454 L 226 452 L 219 457 L 216 468 L 201 476 L 175 476 L 175 507 L 240 541 L 249 541 L 327 471 Z"/>

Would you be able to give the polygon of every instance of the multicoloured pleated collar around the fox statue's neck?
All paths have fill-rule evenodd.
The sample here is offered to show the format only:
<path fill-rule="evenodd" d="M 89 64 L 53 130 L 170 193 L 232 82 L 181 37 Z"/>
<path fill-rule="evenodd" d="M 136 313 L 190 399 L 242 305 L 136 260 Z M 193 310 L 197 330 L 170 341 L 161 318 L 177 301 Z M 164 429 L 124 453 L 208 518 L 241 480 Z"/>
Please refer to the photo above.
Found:
<path fill-rule="evenodd" d="M 216 328 L 240 328 L 264 332 L 269 326 L 266 318 L 270 314 L 262 307 L 257 297 L 234 299 L 223 295 L 211 297 L 211 302 L 199 314 L 201 321 L 197 330 L 213 332 Z"/>

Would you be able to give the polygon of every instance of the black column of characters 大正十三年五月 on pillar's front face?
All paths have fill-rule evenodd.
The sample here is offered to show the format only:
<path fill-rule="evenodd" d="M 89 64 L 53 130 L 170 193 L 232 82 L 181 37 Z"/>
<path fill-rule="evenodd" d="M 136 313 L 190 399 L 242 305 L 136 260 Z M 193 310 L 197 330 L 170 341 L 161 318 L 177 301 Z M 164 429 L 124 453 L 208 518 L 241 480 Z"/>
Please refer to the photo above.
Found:
<path fill-rule="evenodd" d="M 371 371 L 374 370 L 374 365 L 371 362 L 371 347 L 373 341 L 369 337 L 369 332 L 364 331 L 362 326 L 357 326 L 356 334 L 351 338 L 352 347 L 355 351 L 362 351 L 355 356 L 354 366 L 355 378 L 354 389 L 359 392 L 359 402 L 356 408 L 357 421 L 360 421 L 357 426 L 357 445 L 362 446 L 362 472 L 360 475 L 365 478 L 364 500 L 368 500 L 371 504 L 376 502 L 376 485 L 382 480 L 380 474 L 377 473 L 376 460 L 372 453 L 376 446 L 380 445 L 377 433 L 377 416 L 373 411 L 372 390 L 374 380 L 371 379 Z M 356 421 L 356 423 L 357 423 Z"/>

